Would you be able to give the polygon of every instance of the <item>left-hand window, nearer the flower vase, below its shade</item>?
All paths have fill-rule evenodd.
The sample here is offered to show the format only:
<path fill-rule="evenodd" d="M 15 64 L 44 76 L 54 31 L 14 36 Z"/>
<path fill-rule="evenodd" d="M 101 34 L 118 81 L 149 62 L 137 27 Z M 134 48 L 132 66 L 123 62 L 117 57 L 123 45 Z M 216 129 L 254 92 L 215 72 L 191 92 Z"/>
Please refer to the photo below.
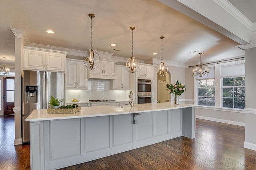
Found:
<path fill-rule="evenodd" d="M 198 105 L 215 106 L 215 79 L 197 80 Z"/>

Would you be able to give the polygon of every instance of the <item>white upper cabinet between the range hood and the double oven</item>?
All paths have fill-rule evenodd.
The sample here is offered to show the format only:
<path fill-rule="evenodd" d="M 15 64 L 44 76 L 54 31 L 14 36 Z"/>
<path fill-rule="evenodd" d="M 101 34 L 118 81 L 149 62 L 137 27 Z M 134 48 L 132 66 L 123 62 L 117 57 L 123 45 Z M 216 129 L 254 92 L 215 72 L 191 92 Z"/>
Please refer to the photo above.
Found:
<path fill-rule="evenodd" d="M 113 80 L 113 90 L 129 90 L 130 74 L 125 66 L 117 66 L 115 68 L 116 80 Z"/>

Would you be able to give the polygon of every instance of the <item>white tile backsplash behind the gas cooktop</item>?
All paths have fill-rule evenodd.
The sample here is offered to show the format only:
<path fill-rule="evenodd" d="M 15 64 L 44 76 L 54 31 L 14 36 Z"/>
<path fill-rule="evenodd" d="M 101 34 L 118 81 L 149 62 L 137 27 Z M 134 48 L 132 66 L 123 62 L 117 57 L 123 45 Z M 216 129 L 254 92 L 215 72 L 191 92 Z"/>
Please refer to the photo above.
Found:
<path fill-rule="evenodd" d="M 78 99 L 79 102 L 88 100 L 116 100 L 128 101 L 130 90 L 110 90 L 110 80 L 88 79 L 88 89 L 86 90 L 66 90 L 66 103 L 72 99 Z"/>

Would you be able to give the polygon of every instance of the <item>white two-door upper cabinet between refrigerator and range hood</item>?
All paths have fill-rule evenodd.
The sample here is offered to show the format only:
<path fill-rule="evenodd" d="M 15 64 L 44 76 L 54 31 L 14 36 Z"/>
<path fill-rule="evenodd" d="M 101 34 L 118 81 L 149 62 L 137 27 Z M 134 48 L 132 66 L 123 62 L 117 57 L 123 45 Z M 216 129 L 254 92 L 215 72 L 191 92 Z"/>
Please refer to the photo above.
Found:
<path fill-rule="evenodd" d="M 82 61 L 67 60 L 66 89 L 86 89 L 88 68 Z"/>

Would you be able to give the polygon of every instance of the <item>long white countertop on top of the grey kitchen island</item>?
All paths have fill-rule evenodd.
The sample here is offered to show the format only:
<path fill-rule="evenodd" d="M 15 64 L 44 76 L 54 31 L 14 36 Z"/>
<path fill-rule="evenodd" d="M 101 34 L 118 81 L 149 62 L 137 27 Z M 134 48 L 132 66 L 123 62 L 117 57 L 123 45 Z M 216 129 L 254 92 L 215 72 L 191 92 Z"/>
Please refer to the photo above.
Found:
<path fill-rule="evenodd" d="M 151 104 L 134 104 L 134 107 L 128 106 L 92 106 L 82 107 L 81 111 L 76 113 L 47 113 L 47 109 L 38 109 L 32 111 L 26 118 L 26 121 L 44 121 L 56 119 L 74 119 L 82 117 L 97 117 L 107 115 L 121 115 L 131 113 L 143 113 L 148 111 L 161 111 L 169 109 L 178 109 L 185 107 L 194 107 L 193 104 L 179 104 L 174 103 L 151 103 Z"/>

